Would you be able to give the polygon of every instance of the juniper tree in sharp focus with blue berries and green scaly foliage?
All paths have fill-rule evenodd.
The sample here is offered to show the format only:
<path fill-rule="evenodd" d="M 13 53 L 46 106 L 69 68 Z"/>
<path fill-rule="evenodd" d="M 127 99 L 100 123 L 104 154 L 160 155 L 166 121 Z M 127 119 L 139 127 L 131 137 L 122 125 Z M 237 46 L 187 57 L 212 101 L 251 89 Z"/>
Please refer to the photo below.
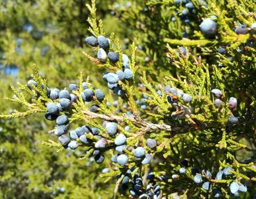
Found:
<path fill-rule="evenodd" d="M 113 11 L 129 25 L 134 42 L 128 49 L 114 32 L 104 31 L 95 1 L 87 5 L 86 43 L 97 55 L 82 54 L 105 69 L 105 84 L 94 85 L 81 71 L 77 86 L 57 89 L 34 66 L 35 82 L 18 84 L 31 99 L 15 88 L 16 96 L 6 97 L 27 110 L 1 117 L 67 116 L 51 131 L 58 140 L 44 144 L 82 150 L 81 160 L 108 164 L 101 177 L 117 177 L 114 197 L 253 197 L 253 1 L 133 3 L 114 5 Z M 117 99 L 113 105 L 101 90 L 106 86 Z"/>

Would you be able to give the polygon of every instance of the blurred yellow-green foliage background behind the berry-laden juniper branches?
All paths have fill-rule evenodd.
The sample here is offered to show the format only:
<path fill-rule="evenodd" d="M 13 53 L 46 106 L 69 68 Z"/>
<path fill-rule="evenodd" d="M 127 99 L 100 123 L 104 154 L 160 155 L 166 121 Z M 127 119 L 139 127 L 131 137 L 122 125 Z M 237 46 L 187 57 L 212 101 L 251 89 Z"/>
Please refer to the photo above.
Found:
<path fill-rule="evenodd" d="M 32 65 L 51 87 L 77 82 L 81 69 L 99 85 L 101 72 L 83 55 L 89 36 L 86 22 L 88 0 L 1 0 L 0 1 L 0 97 L 1 113 L 22 110 L 11 97 L 10 84 L 26 83 Z M 125 28 L 111 12 L 113 1 L 97 1 L 97 15 L 104 19 L 105 32 L 115 32 L 125 41 Z M 122 28 L 121 28 L 122 27 Z M 122 32 L 123 31 L 123 32 Z M 97 80 L 97 81 L 96 81 Z M 57 153 L 42 145 L 56 140 L 47 134 L 54 123 L 44 115 L 0 120 L 0 198 L 106 198 L 114 187 L 100 179 L 104 166 L 78 160 L 82 151 Z"/>

